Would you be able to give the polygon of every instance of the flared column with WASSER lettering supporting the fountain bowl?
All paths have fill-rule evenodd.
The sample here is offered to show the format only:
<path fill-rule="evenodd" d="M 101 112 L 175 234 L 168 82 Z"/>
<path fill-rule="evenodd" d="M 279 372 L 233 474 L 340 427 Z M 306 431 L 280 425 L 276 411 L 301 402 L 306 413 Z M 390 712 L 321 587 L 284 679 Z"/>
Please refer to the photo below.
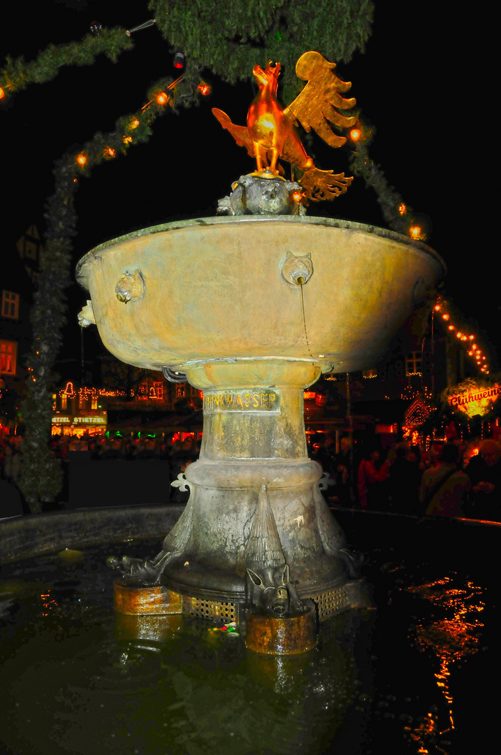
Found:
<path fill-rule="evenodd" d="M 318 380 L 318 363 L 217 359 L 183 371 L 204 392 L 204 436 L 200 459 L 186 470 L 191 534 L 164 583 L 185 596 L 243 603 L 246 568 L 260 559 L 249 540 L 265 485 L 279 544 L 260 535 L 264 561 L 267 549 L 281 550 L 302 599 L 342 587 L 349 578 L 336 553 L 343 533 L 318 489 L 322 470 L 308 458 L 304 428 L 303 390 Z"/>

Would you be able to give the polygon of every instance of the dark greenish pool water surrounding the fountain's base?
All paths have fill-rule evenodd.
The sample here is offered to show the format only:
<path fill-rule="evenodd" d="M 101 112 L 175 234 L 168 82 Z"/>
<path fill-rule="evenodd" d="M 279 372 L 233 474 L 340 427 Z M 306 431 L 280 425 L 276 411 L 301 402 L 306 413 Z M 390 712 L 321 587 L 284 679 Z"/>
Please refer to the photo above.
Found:
<path fill-rule="evenodd" d="M 397 519 L 398 547 L 388 536 Z M 430 539 L 416 532 L 429 535 L 431 525 L 411 517 L 364 522 L 364 572 L 377 611 L 324 622 L 318 646 L 297 656 L 258 655 L 245 648 L 243 631 L 191 617 L 115 617 L 104 560 L 124 544 L 2 567 L 0 752 L 473 751 L 470 742 L 487 738 L 497 639 L 481 541 L 492 553 L 499 530 L 484 528 L 486 541 L 478 526 L 436 522 Z M 349 531 L 349 519 L 341 523 Z M 374 537 L 377 527 L 386 537 Z M 456 555 L 440 548 L 451 535 Z M 128 553 L 156 546 L 129 543 Z"/>

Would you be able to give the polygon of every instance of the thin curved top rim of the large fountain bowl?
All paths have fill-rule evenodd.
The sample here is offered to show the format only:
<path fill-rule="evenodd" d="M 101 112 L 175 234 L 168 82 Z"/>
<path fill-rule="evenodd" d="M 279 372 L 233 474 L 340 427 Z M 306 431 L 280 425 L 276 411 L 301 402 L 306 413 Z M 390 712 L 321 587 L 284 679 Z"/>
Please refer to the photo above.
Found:
<path fill-rule="evenodd" d="M 241 216 L 217 216 L 217 217 L 196 217 L 189 220 L 172 220 L 169 223 L 161 223 L 158 226 L 150 226 L 148 228 L 141 228 L 140 230 L 131 231 L 131 233 L 125 233 L 123 236 L 118 236 L 116 239 L 109 239 L 109 241 L 90 249 L 80 260 L 75 268 L 75 277 L 81 288 L 88 291 L 87 285 L 87 267 L 88 263 L 91 263 L 97 254 L 102 254 L 105 251 L 112 251 L 118 245 L 133 241 L 134 239 L 140 239 L 143 236 L 152 236 L 155 233 L 164 233 L 166 231 L 183 230 L 184 228 L 194 227 L 210 227 L 214 225 L 226 224 L 226 223 L 295 223 L 297 225 L 313 225 L 313 226 L 326 226 L 330 228 L 339 228 L 340 230 L 355 230 L 358 233 L 375 234 L 381 236 L 384 239 L 399 242 L 404 244 L 415 251 L 421 251 L 432 257 L 442 268 L 441 278 L 447 273 L 447 265 L 442 259 L 441 255 L 423 242 L 410 239 L 408 236 L 403 236 L 401 233 L 389 230 L 387 228 L 380 228 L 378 226 L 370 225 L 369 223 L 357 223 L 355 220 L 341 220 L 335 217 L 297 217 L 295 215 L 241 215 Z"/>

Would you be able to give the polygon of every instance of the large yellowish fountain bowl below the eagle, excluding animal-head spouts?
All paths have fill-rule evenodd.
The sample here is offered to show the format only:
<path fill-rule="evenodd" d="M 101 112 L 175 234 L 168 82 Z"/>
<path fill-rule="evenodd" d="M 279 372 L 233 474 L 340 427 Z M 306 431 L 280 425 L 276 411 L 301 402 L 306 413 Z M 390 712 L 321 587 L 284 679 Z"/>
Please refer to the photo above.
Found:
<path fill-rule="evenodd" d="M 303 286 L 284 258 L 312 255 Z M 140 270 L 144 294 L 124 307 L 115 284 Z M 103 344 L 160 370 L 235 357 L 307 359 L 322 371 L 373 366 L 444 270 L 426 245 L 321 217 L 214 217 L 166 223 L 88 252 L 77 277 L 91 291 Z M 306 326 L 306 331 L 305 331 Z"/>

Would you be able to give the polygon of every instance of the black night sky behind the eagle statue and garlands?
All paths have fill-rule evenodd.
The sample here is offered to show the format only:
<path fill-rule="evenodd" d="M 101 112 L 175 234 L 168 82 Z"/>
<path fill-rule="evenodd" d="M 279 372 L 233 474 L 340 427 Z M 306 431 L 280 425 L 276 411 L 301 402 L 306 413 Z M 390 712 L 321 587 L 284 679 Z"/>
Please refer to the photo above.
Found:
<path fill-rule="evenodd" d="M 404 201 L 431 220 L 428 243 L 449 267 L 446 295 L 495 347 L 498 285 L 490 267 L 489 224 L 481 224 L 495 210 L 489 208 L 484 188 L 489 178 L 483 165 L 486 116 L 476 99 L 484 61 L 468 60 L 465 44 L 475 38 L 481 20 L 438 17 L 439 5 L 430 0 L 379 0 L 376 5 L 366 54 L 339 63 L 337 72 L 352 81 L 350 95 L 377 129 L 371 156 Z M 12 4 L 5 16 L 2 11 L 0 57 L 23 54 L 31 60 L 51 42 L 81 38 L 94 19 L 103 26 L 128 27 L 151 17 L 146 2 L 135 3 L 134 11 L 128 8 L 132 6 L 111 0 L 68 0 L 39 3 L 26 17 L 23 6 Z M 122 54 L 116 65 L 101 57 L 94 66 L 63 68 L 53 82 L 31 85 L 0 109 L 4 260 L 29 224 L 44 227 L 54 159 L 96 131 L 112 130 L 115 119 L 146 102 L 152 82 L 176 73 L 168 45 L 155 27 L 135 34 L 134 42 L 134 51 Z M 266 63 L 259 55 L 256 62 Z M 217 106 L 234 122 L 244 123 L 254 96 L 251 83 L 230 88 L 208 72 L 206 78 L 214 88 L 209 101 L 180 116 L 158 119 L 148 144 L 101 165 L 91 179 L 81 181 L 75 262 L 88 248 L 133 228 L 215 214 L 217 199 L 229 193 L 232 180 L 252 170 L 244 149 L 235 146 L 211 115 L 211 107 Z M 326 152 L 318 144 L 315 153 L 321 168 L 349 170 L 343 149 Z M 374 194 L 361 180 L 355 180 L 345 196 L 312 208 L 310 214 L 385 225 Z M 70 321 L 61 358 L 78 357 L 75 313 L 84 300 L 75 285 L 69 292 Z M 96 329 L 88 328 L 85 339 L 91 356 L 99 350 Z M 494 362 L 495 350 L 491 356 Z"/>

